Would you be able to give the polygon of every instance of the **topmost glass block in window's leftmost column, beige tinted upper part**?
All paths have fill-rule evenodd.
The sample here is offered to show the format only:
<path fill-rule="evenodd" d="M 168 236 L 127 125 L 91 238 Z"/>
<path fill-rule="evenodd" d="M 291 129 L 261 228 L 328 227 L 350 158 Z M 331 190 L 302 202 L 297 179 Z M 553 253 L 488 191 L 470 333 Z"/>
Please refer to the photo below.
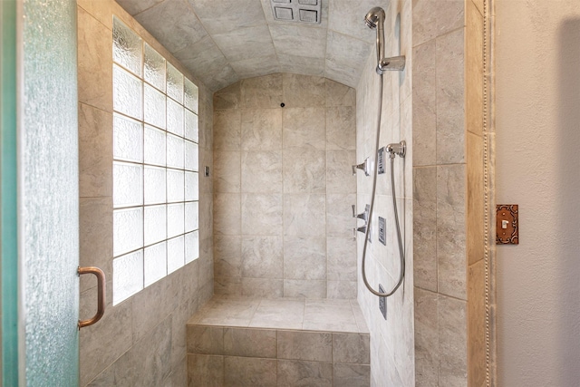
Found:
<path fill-rule="evenodd" d="M 123 24 L 117 17 L 112 18 L 112 59 L 131 73 L 141 75 L 141 38 Z"/>

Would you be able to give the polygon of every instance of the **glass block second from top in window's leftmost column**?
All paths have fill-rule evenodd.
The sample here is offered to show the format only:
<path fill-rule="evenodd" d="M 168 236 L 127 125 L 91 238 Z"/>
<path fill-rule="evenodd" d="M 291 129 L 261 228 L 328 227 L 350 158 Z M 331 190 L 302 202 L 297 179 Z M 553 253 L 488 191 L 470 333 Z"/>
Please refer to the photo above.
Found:
<path fill-rule="evenodd" d="M 137 120 L 143 118 L 142 82 L 121 67 L 112 66 L 112 107 Z"/>

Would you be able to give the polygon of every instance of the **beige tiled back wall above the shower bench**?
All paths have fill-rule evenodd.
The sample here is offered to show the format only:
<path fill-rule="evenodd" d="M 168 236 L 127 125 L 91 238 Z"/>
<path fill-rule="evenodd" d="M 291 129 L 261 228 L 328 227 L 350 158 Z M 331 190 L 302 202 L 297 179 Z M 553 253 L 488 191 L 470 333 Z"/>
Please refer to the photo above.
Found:
<path fill-rule="evenodd" d="M 216 294 L 355 298 L 354 90 L 276 73 L 214 109 Z"/>

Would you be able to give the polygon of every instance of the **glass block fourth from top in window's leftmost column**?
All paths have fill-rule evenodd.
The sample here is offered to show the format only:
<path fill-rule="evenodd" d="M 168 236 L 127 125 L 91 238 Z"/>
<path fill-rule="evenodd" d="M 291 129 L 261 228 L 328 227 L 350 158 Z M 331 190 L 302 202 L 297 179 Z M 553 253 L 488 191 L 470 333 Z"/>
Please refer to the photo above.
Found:
<path fill-rule="evenodd" d="M 143 166 L 115 161 L 112 164 L 114 208 L 143 204 Z"/>

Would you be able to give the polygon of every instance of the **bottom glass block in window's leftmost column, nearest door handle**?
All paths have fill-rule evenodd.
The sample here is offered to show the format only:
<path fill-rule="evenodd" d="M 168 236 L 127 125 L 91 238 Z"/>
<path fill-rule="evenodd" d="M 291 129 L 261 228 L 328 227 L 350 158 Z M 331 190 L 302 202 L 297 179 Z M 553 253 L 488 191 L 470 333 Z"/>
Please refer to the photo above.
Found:
<path fill-rule="evenodd" d="M 143 288 L 143 250 L 112 261 L 112 305 L 117 305 Z"/>

